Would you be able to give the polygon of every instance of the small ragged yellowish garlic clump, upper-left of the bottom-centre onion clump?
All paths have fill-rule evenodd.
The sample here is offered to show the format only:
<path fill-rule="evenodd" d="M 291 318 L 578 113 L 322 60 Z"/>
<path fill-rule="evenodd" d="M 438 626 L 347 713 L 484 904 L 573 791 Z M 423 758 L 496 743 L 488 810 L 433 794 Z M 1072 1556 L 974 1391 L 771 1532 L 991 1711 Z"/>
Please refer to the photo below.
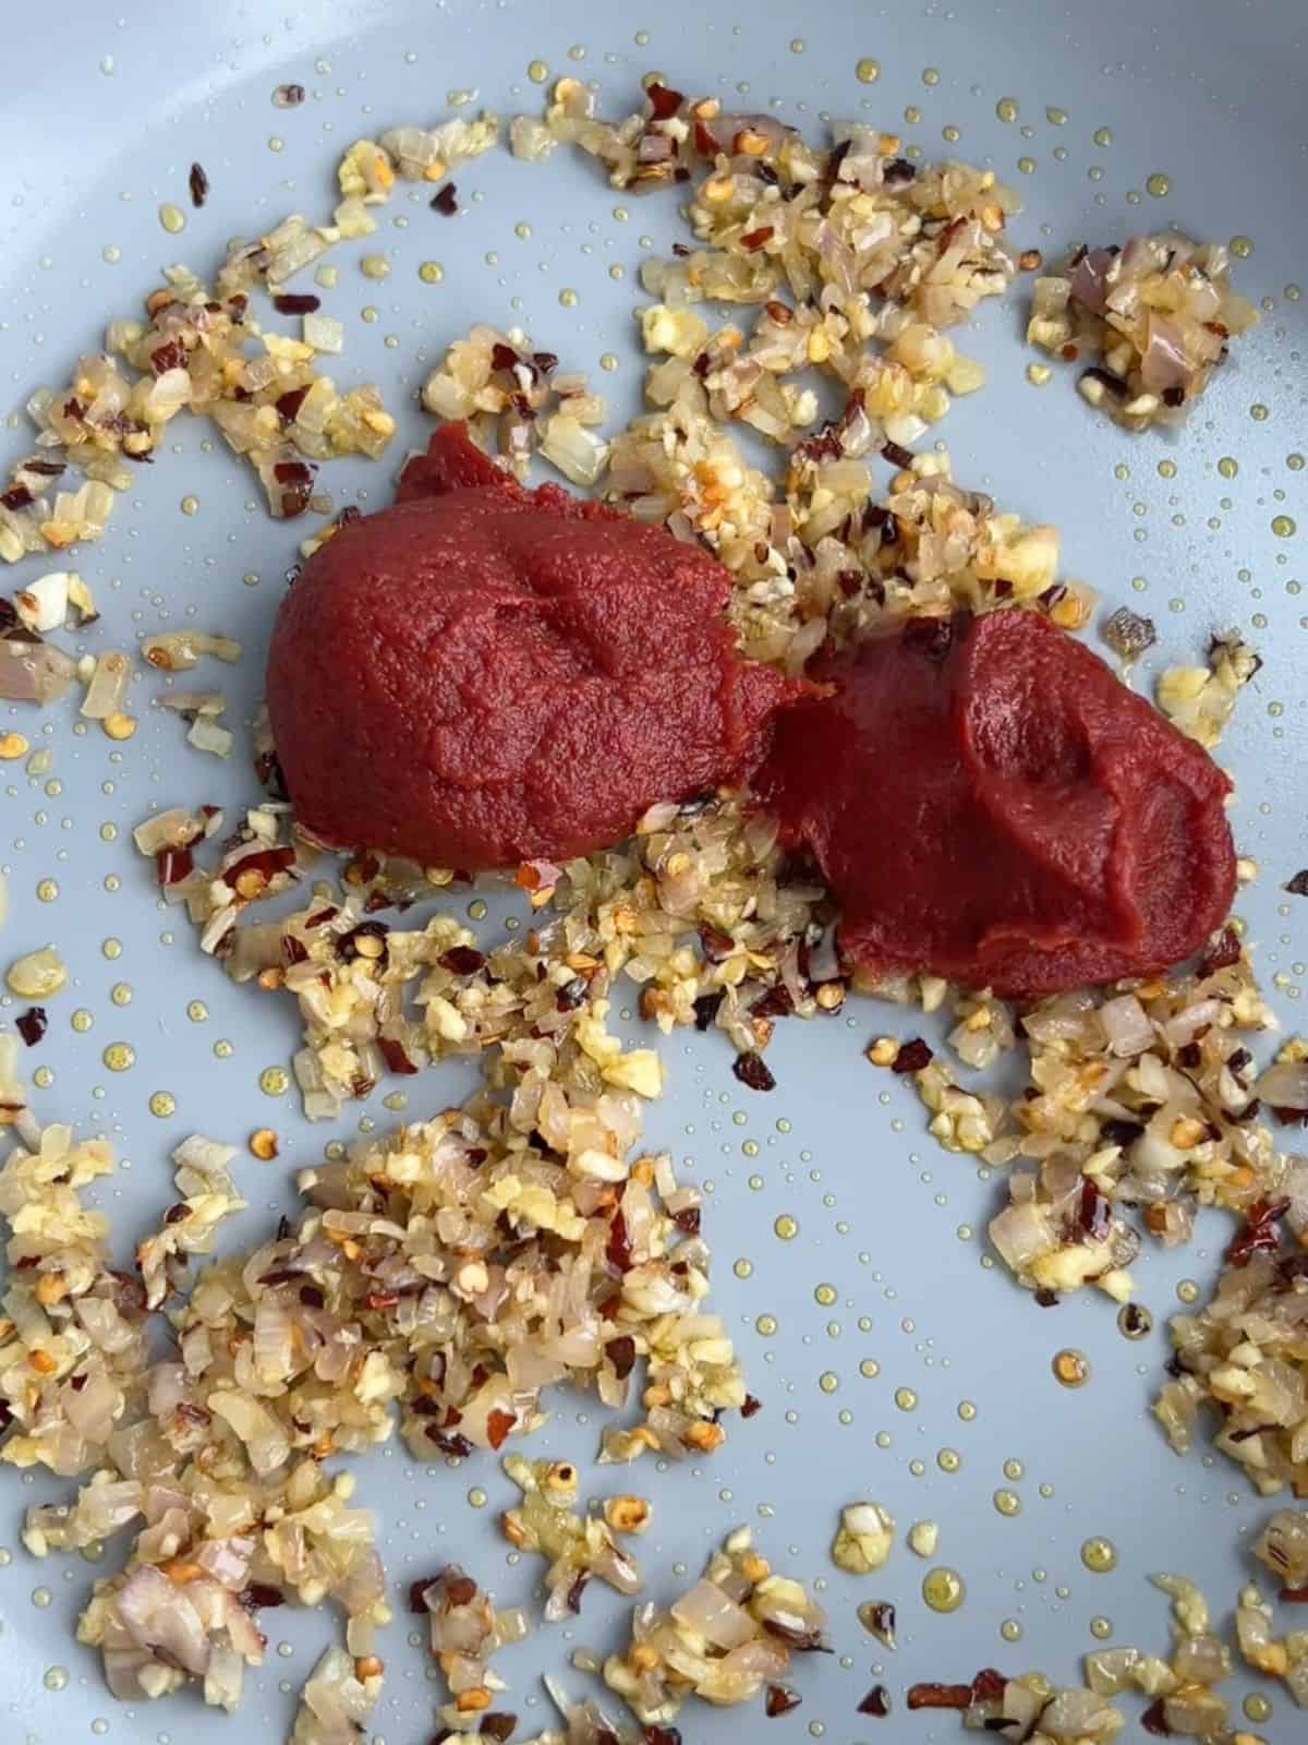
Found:
<path fill-rule="evenodd" d="M 523 1501 L 518 1508 L 506 1509 L 501 1529 L 516 1550 L 537 1551 L 548 1558 L 544 1616 L 549 1623 L 581 1611 L 581 1597 L 591 1577 L 617 1593 L 640 1593 L 640 1570 L 619 1550 L 610 1525 L 596 1515 L 581 1516 L 569 1506 L 577 1497 L 576 1466 L 567 1461 L 506 1455 L 504 1471 L 521 1490 Z"/>

